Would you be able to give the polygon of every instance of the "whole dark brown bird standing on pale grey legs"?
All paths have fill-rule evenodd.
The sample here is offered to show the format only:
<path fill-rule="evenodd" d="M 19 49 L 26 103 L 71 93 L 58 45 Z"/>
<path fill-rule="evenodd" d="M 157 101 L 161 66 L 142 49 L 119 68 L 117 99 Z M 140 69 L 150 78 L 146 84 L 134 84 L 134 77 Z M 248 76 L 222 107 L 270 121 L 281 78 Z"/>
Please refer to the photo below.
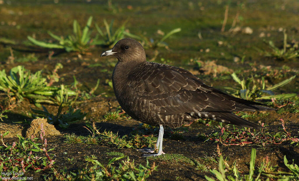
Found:
<path fill-rule="evenodd" d="M 136 121 L 160 127 L 158 153 L 145 150 L 143 156 L 159 156 L 164 127 L 176 128 L 199 118 L 263 128 L 233 112 L 276 110 L 264 104 L 228 95 L 208 86 L 199 77 L 179 67 L 148 62 L 143 46 L 136 40 L 119 40 L 103 56 L 118 59 L 112 73 L 115 97 L 122 109 Z"/>

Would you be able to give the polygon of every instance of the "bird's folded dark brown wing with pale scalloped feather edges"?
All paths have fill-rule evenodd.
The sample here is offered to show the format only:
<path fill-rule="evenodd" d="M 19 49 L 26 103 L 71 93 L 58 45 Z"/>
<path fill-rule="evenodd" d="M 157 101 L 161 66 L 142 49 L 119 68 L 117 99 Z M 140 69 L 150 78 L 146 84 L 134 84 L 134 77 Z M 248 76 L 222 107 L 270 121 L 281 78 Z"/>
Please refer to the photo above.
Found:
<path fill-rule="evenodd" d="M 129 86 L 134 86 L 131 88 L 139 98 L 159 107 L 159 114 L 254 111 L 257 108 L 251 104 L 260 105 L 234 98 L 207 86 L 198 77 L 184 69 L 163 64 L 152 69 L 151 71 L 138 71 L 138 74 L 132 75 Z"/>

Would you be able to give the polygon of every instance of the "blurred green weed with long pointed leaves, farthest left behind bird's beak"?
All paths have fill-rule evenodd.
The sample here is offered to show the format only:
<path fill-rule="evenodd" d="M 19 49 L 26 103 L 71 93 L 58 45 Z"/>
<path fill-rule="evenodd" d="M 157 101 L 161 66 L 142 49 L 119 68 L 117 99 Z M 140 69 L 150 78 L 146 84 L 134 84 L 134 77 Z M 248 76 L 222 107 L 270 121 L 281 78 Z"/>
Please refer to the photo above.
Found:
<path fill-rule="evenodd" d="M 43 47 L 43 48 L 58 48 L 58 49 L 64 49 L 67 52 L 70 51 L 77 51 L 80 53 L 85 53 L 86 51 L 89 50 L 89 48 L 92 45 L 96 45 L 93 43 L 90 34 L 91 32 L 89 31 L 91 27 L 91 22 L 92 22 L 92 16 L 89 17 L 87 20 L 86 26 L 81 30 L 79 23 L 77 20 L 74 20 L 73 22 L 73 35 L 68 35 L 67 38 L 57 36 L 51 31 L 48 31 L 48 34 L 59 41 L 59 43 L 47 43 L 47 42 L 42 42 L 38 41 L 31 36 L 27 36 L 30 42 L 32 42 L 34 45 Z"/>

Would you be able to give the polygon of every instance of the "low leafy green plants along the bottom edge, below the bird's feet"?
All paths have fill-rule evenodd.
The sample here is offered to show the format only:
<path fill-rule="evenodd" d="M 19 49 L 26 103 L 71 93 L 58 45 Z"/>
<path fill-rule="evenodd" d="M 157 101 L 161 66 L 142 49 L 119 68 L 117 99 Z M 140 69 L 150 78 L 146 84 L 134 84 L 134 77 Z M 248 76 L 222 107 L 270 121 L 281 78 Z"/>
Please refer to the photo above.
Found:
<path fill-rule="evenodd" d="M 118 165 L 116 162 L 123 159 L 125 156 L 114 157 L 109 159 L 107 164 L 102 164 L 96 159 L 89 157 L 85 158 L 91 165 L 87 164 L 85 168 L 80 168 L 76 171 L 69 171 L 67 168 L 57 171 L 53 169 L 53 175 L 50 177 L 44 176 L 45 180 L 135 180 L 144 181 L 148 178 L 153 171 L 157 170 L 155 162 L 150 165 L 147 161 L 145 166 L 139 164 L 135 165 L 134 160 L 127 157 L 122 160 Z"/>

